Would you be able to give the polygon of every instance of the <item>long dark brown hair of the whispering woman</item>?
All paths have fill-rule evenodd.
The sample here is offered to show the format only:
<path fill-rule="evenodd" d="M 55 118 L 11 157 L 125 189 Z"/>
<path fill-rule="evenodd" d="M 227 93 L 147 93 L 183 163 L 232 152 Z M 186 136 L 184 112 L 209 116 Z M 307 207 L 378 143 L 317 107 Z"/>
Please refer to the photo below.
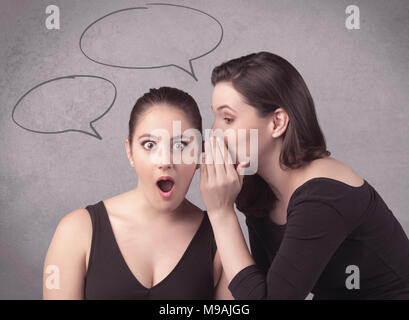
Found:
<path fill-rule="evenodd" d="M 314 102 L 300 73 L 284 58 L 270 52 L 252 53 L 215 67 L 211 81 L 230 82 L 245 102 L 265 117 L 283 108 L 289 122 L 282 135 L 280 165 L 295 169 L 329 156 L 318 124 Z M 277 200 L 258 174 L 246 175 L 237 208 L 246 215 L 265 216 Z"/>

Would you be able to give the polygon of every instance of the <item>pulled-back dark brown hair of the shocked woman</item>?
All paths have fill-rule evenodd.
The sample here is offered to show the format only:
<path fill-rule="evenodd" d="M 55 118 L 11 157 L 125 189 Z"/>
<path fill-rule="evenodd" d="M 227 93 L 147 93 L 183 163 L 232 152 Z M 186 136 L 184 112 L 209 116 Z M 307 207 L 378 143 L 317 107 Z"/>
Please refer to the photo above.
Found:
<path fill-rule="evenodd" d="M 135 103 L 129 118 L 129 143 L 132 145 L 135 126 L 141 115 L 150 107 L 158 104 L 166 104 L 170 107 L 183 111 L 192 121 L 195 129 L 202 134 L 202 117 L 195 99 L 187 92 L 172 87 L 160 87 L 150 89 Z"/>

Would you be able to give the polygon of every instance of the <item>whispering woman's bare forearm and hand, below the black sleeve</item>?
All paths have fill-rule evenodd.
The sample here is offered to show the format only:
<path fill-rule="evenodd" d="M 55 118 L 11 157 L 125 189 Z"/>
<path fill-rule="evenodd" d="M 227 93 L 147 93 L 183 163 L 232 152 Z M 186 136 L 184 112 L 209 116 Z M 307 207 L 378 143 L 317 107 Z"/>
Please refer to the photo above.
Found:
<path fill-rule="evenodd" d="M 230 282 L 240 270 L 254 264 L 234 212 L 234 201 L 243 183 L 243 176 L 238 172 L 243 165 L 240 164 L 235 169 L 224 143 L 219 145 L 213 138 L 211 137 L 210 143 L 205 142 L 206 154 L 202 155 L 200 166 L 200 190 L 223 269 Z"/>

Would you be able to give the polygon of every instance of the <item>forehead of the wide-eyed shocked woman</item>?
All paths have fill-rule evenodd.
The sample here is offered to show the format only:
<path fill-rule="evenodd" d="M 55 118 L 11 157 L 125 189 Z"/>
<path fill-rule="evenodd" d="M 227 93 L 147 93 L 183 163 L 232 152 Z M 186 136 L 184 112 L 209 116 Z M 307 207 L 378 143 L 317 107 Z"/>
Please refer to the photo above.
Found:
<path fill-rule="evenodd" d="M 183 131 L 193 128 L 189 116 L 182 110 L 166 104 L 154 105 L 146 110 L 138 119 L 135 133 L 151 133 L 153 130 L 163 129 L 172 135 L 173 125 L 179 125 Z"/>

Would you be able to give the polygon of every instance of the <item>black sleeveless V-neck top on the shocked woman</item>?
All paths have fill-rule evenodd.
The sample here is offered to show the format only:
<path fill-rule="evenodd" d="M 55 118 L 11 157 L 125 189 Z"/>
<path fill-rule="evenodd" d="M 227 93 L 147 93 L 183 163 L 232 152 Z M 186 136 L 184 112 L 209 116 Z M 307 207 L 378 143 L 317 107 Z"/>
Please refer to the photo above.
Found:
<path fill-rule="evenodd" d="M 92 221 L 92 244 L 85 276 L 85 299 L 213 299 L 216 242 L 206 211 L 174 269 L 161 282 L 146 288 L 135 278 L 120 252 L 103 201 L 86 209 Z"/>

